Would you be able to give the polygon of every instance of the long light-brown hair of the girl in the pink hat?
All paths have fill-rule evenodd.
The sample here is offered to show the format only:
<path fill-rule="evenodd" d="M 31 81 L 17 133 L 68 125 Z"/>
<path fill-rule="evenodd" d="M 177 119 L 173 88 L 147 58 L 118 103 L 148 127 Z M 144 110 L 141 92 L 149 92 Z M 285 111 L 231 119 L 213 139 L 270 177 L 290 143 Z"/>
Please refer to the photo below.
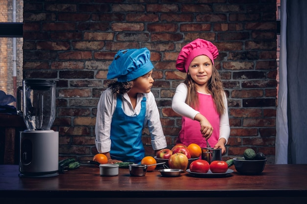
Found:
<path fill-rule="evenodd" d="M 186 96 L 186 104 L 193 108 L 198 108 L 200 106 L 198 101 L 198 94 L 195 86 L 195 82 L 192 77 L 187 74 L 184 80 L 184 84 L 187 86 L 188 93 Z M 212 65 L 212 76 L 208 81 L 208 91 L 212 95 L 216 111 L 221 115 L 225 113 L 225 106 L 223 102 L 224 89 L 223 83 L 217 69 Z"/>

